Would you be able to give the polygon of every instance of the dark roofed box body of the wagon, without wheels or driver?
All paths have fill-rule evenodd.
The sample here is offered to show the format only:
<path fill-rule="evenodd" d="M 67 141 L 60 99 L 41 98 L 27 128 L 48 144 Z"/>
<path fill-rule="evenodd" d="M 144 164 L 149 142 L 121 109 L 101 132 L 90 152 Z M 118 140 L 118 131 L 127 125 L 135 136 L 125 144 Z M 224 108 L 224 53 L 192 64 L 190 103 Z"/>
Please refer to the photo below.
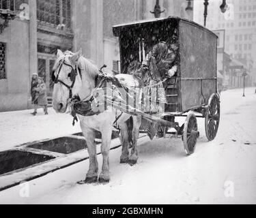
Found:
<path fill-rule="evenodd" d="M 195 22 L 173 16 L 113 27 L 113 34 L 119 37 L 122 74 L 127 74 L 132 59 L 143 61 L 143 39 L 156 35 L 158 42 L 165 42 L 174 31 L 179 45 L 178 70 L 168 81 L 165 112 L 177 114 L 208 104 L 212 93 L 217 93 L 218 37 Z"/>

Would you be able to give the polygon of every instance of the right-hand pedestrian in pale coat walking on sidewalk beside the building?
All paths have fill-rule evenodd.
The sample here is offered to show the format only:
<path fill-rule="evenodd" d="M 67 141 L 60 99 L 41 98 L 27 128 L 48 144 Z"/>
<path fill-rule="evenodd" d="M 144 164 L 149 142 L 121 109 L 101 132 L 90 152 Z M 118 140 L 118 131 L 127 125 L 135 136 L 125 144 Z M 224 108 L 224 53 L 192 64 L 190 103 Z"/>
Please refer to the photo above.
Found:
<path fill-rule="evenodd" d="M 47 110 L 47 91 L 46 84 L 44 83 L 43 78 L 38 77 L 38 86 L 34 88 L 35 91 L 38 91 L 37 104 L 34 104 L 34 116 L 37 114 L 38 108 L 44 108 L 44 114 L 48 114 Z"/>

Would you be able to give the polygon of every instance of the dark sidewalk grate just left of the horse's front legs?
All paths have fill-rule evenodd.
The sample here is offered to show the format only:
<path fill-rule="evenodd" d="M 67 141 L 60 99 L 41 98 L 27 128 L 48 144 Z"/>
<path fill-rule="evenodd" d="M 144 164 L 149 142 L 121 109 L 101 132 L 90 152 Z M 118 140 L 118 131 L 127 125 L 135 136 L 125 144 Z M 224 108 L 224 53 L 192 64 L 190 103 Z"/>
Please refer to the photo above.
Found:
<path fill-rule="evenodd" d="M 70 154 L 76 151 L 80 151 L 82 149 L 86 149 L 87 144 L 84 139 L 62 137 L 44 142 L 38 142 L 28 147 L 33 149 L 41 149 L 57 153 Z"/>

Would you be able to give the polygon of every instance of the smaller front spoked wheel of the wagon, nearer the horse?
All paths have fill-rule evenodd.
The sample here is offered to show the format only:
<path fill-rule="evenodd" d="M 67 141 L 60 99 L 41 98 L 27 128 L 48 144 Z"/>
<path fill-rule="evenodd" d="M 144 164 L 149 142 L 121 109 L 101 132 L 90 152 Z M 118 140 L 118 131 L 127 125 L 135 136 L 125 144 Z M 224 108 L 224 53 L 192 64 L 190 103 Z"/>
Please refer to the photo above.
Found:
<path fill-rule="evenodd" d="M 190 113 L 186 117 L 182 135 L 184 149 L 187 155 L 192 155 L 195 152 L 198 136 L 199 131 L 197 131 L 197 118 L 195 114 Z"/>

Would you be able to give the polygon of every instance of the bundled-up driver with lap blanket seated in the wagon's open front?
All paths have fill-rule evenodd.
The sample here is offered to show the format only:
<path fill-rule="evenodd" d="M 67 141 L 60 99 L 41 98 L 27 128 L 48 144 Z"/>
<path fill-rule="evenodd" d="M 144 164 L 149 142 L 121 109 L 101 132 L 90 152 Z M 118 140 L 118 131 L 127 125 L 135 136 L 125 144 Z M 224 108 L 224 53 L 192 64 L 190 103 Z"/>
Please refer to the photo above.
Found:
<path fill-rule="evenodd" d="M 145 60 L 132 74 L 142 78 L 145 96 L 150 97 L 146 98 L 145 112 L 160 114 L 165 110 L 165 80 L 177 73 L 177 30 L 166 42 L 158 42 L 158 37 L 153 35 L 146 39 L 145 45 Z"/>

